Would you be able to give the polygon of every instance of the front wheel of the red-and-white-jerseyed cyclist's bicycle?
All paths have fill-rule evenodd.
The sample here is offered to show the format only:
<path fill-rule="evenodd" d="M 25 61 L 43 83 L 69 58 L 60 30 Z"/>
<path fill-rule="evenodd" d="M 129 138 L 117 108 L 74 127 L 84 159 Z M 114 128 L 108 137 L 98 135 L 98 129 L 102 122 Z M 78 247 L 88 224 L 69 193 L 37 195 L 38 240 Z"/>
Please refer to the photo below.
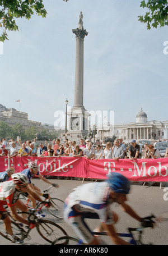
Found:
<path fill-rule="evenodd" d="M 53 241 L 60 236 L 67 235 L 62 227 L 48 220 L 38 220 L 36 228 L 40 236 L 49 243 L 53 243 Z M 63 244 L 66 244 L 66 241 L 64 241 Z"/>

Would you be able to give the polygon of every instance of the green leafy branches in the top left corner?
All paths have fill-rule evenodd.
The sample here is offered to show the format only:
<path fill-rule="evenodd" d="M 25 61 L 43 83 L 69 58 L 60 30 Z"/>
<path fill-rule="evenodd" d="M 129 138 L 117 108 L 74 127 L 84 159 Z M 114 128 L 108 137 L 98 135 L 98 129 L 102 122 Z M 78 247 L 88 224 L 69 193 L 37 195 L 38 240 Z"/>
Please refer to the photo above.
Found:
<path fill-rule="evenodd" d="M 29 20 L 34 13 L 46 17 L 43 0 L 0 0 L 0 28 L 3 28 L 0 41 L 8 40 L 7 30 L 18 30 L 16 19 L 25 17 Z"/>

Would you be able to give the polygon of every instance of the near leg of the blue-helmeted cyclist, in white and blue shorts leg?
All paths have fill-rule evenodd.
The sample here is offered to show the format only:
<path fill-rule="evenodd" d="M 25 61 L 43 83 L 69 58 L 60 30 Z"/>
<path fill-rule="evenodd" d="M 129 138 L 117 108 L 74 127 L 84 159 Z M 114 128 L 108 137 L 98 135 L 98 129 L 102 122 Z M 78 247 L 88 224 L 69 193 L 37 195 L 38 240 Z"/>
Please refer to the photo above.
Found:
<path fill-rule="evenodd" d="M 63 216 L 67 224 L 73 228 L 74 232 L 76 232 L 77 236 L 84 243 L 99 244 L 99 240 L 92 234 L 90 228 L 84 221 L 85 213 L 76 211 L 75 206 L 71 208 L 65 204 Z"/>

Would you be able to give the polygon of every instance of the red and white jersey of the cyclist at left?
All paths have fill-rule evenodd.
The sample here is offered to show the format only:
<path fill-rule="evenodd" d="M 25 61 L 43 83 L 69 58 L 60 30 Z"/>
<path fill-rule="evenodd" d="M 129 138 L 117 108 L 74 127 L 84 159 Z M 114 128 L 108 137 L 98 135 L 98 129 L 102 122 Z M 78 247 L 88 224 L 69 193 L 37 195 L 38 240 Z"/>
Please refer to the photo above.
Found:
<path fill-rule="evenodd" d="M 14 206 L 20 193 L 12 180 L 2 182 L 0 185 L 0 212 L 6 212 L 6 209 L 3 208 L 5 204 L 9 207 Z"/>

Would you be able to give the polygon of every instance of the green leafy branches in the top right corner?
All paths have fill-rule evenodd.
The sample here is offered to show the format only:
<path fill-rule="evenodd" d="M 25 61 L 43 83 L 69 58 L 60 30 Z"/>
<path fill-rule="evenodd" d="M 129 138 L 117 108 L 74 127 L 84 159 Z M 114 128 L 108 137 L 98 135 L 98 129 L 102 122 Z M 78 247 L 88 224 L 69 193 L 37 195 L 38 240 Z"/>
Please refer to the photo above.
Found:
<path fill-rule="evenodd" d="M 139 21 L 147 24 L 147 29 L 157 28 L 157 26 L 168 25 L 168 2 L 167 0 L 141 1 L 142 8 L 148 8 L 144 16 L 139 15 Z"/>

